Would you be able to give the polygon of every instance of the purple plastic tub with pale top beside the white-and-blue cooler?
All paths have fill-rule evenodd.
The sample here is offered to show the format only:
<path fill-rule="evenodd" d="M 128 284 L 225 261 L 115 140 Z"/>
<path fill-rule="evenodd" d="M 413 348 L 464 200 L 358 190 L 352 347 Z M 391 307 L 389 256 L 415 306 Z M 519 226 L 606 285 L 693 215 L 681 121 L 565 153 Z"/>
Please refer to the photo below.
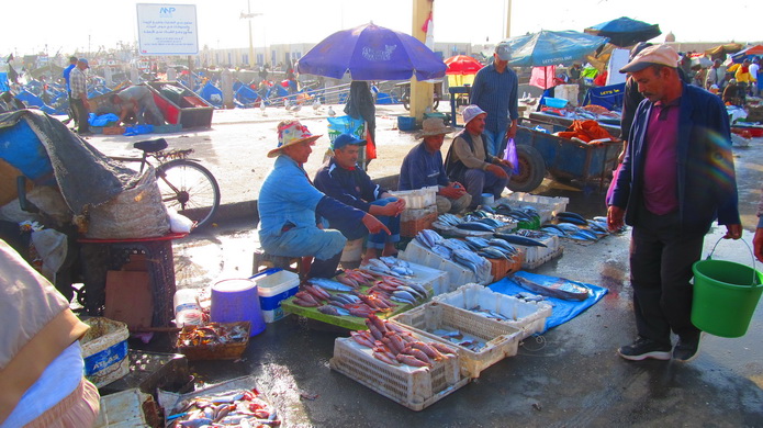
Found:
<path fill-rule="evenodd" d="M 265 330 L 257 285 L 248 279 L 223 280 L 212 285 L 210 318 L 214 323 L 251 323 L 251 336 Z"/>

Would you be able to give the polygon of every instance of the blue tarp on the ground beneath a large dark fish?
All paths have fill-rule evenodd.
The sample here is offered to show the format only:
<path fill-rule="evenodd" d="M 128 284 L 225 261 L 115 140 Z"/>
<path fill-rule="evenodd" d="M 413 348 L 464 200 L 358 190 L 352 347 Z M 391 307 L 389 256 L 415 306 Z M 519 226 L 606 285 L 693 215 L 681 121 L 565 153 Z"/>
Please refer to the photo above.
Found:
<path fill-rule="evenodd" d="M 524 277 L 532 282 L 539 283 L 553 283 L 560 280 L 570 281 L 563 278 L 541 275 L 538 273 L 530 273 L 525 271 L 519 271 L 515 273 L 515 275 Z M 587 286 L 592 291 L 591 295 L 588 296 L 588 299 L 584 301 L 565 301 L 561 299 L 547 297 L 547 301 L 553 306 L 553 311 L 551 313 L 551 316 L 546 319 L 546 330 L 541 333 L 545 333 L 550 328 L 553 328 L 560 324 L 564 324 L 570 319 L 576 317 L 583 311 L 593 306 L 594 303 L 598 302 L 599 300 L 602 300 L 602 297 L 604 297 L 605 294 L 607 294 L 607 289 L 598 285 L 586 284 L 577 281 L 570 282 Z M 525 288 L 519 286 L 510 278 L 504 278 L 503 280 L 491 284 L 489 288 L 496 293 L 506 295 L 515 295 L 518 293 L 536 294 Z"/>

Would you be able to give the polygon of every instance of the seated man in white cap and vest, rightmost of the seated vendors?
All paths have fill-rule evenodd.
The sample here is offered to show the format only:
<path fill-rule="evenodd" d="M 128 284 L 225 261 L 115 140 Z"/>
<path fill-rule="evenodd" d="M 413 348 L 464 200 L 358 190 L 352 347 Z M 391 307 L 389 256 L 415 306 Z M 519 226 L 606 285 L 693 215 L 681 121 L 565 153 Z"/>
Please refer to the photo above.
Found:
<path fill-rule="evenodd" d="M 513 168 L 507 160 L 487 154 L 483 134 L 486 116 L 479 106 L 467 106 L 463 110 L 465 127 L 456 135 L 445 158 L 448 177 L 464 183 L 472 195 L 470 209 L 480 204 L 482 193 L 492 193 L 496 200 L 501 198 Z"/>

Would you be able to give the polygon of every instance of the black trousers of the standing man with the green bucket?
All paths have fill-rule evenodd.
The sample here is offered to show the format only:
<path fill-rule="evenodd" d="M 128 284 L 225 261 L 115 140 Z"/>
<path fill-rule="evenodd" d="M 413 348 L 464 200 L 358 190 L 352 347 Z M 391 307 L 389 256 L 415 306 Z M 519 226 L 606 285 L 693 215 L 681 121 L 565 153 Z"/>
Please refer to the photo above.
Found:
<path fill-rule="evenodd" d="M 671 345 L 671 330 L 686 340 L 692 324 L 692 264 L 702 257 L 704 234 L 680 229 L 678 213 L 655 215 L 641 207 L 630 244 L 630 282 L 639 336 Z"/>

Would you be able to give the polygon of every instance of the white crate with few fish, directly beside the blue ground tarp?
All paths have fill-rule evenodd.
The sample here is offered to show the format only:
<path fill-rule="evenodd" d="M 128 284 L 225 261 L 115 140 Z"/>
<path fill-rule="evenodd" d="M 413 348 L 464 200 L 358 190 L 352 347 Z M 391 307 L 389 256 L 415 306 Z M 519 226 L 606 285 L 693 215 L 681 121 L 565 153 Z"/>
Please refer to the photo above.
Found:
<path fill-rule="evenodd" d="M 551 305 L 546 302 L 525 302 L 523 300 L 496 293 L 480 284 L 461 285 L 458 290 L 438 295 L 435 302 L 470 311 L 480 306 L 496 312 L 509 320 L 496 319 L 498 323 L 521 328 L 520 339 L 546 329 L 546 318 L 551 316 Z M 480 314 L 478 314 L 480 315 Z"/>

